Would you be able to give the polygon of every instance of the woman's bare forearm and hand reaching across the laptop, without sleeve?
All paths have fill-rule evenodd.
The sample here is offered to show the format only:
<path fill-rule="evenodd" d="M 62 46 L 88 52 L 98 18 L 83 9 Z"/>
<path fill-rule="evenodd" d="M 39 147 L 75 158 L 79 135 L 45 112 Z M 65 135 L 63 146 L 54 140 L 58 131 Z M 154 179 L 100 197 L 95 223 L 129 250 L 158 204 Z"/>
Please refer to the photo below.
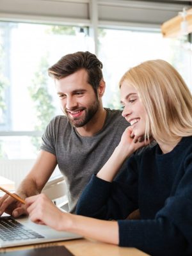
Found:
<path fill-rule="evenodd" d="M 31 221 L 56 230 L 75 232 L 106 243 L 118 244 L 118 223 L 61 212 L 44 194 L 26 199 Z M 46 211 L 45 211 L 46 209 Z"/>

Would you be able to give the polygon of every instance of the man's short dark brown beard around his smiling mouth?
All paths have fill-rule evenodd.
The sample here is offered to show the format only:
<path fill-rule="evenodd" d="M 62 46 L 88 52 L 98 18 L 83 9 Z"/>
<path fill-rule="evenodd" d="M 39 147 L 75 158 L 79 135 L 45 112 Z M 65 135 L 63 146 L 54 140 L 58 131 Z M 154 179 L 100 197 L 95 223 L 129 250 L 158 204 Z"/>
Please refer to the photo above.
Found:
<path fill-rule="evenodd" d="M 72 126 L 83 127 L 93 118 L 95 113 L 97 113 L 98 109 L 99 109 L 99 99 L 96 98 L 95 102 L 93 102 L 93 104 L 89 108 L 82 109 L 84 110 L 85 115 L 71 119 L 66 109 L 65 109 L 65 114 L 67 115 L 68 121 Z M 72 109 L 72 110 L 76 111 L 77 109 Z"/>

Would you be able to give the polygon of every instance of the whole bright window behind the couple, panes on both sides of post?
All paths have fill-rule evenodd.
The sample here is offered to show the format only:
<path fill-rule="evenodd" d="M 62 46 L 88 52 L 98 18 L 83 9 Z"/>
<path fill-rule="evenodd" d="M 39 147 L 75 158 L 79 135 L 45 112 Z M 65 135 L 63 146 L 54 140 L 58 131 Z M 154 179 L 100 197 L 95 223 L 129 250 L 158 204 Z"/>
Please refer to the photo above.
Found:
<path fill-rule="evenodd" d="M 172 63 L 192 90 L 191 51 L 183 40 L 144 29 L 102 28 L 98 34 L 105 107 L 120 107 L 120 77 L 150 59 Z M 47 68 L 69 52 L 92 51 L 92 44 L 86 27 L 0 22 L 0 157 L 36 157 L 46 125 L 62 114 Z"/>

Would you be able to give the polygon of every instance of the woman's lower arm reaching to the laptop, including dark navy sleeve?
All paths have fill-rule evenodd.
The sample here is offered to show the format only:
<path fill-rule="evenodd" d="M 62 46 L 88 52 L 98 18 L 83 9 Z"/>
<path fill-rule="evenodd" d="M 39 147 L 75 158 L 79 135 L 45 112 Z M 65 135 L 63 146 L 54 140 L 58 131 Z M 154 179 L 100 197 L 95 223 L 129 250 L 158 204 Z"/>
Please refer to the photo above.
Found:
<path fill-rule="evenodd" d="M 168 212 L 167 216 L 159 214 L 154 220 L 97 220 L 61 212 L 44 194 L 27 198 L 26 207 L 31 221 L 59 231 L 74 232 L 105 243 L 136 247 L 150 255 L 191 255 L 187 254 L 191 252 L 188 243 L 191 239 L 190 221 L 183 220 L 189 230 L 185 237 Z"/>

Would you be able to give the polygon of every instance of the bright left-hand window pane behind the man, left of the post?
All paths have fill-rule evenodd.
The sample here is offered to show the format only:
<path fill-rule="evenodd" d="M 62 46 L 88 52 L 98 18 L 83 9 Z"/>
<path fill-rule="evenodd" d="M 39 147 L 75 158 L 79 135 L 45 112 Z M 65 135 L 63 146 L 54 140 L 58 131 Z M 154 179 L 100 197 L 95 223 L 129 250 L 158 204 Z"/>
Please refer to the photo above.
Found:
<path fill-rule="evenodd" d="M 47 68 L 68 52 L 89 50 L 86 31 L 0 22 L 0 131 L 6 131 L 0 138 L 1 157 L 35 157 L 46 125 L 61 114 Z"/>

